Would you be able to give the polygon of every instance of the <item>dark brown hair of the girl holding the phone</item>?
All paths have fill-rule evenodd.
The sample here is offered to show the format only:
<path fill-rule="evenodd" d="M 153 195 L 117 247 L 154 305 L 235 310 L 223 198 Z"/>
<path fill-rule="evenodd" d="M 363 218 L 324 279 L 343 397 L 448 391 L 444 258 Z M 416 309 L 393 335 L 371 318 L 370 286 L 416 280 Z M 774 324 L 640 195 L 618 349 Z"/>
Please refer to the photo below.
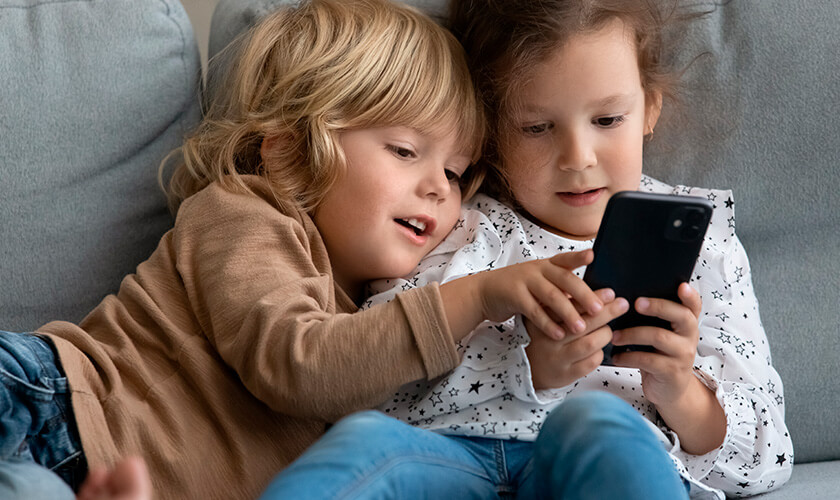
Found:
<path fill-rule="evenodd" d="M 646 97 L 675 100 L 680 73 L 663 62 L 664 30 L 700 14 L 678 12 L 674 0 L 451 0 L 449 28 L 466 49 L 489 122 L 482 189 L 515 202 L 503 152 L 515 128 L 518 96 L 532 68 L 570 37 L 620 19 L 634 32 Z"/>

